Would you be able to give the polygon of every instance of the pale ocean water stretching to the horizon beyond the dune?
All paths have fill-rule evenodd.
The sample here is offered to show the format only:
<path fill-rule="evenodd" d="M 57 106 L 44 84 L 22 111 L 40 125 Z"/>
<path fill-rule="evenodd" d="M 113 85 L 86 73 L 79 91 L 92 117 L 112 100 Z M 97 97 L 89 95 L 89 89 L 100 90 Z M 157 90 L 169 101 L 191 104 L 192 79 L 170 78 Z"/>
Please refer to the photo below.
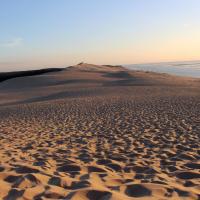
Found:
<path fill-rule="evenodd" d="M 200 78 L 200 61 L 124 65 L 128 69 Z"/>

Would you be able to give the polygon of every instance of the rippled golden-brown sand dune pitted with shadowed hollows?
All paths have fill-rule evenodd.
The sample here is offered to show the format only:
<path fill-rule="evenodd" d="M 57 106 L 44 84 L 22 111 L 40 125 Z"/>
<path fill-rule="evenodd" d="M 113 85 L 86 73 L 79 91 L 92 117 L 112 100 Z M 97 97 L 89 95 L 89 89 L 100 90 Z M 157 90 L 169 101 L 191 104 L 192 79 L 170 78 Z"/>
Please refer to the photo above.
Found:
<path fill-rule="evenodd" d="M 0 199 L 200 199 L 200 81 L 81 64 L 0 83 Z"/>

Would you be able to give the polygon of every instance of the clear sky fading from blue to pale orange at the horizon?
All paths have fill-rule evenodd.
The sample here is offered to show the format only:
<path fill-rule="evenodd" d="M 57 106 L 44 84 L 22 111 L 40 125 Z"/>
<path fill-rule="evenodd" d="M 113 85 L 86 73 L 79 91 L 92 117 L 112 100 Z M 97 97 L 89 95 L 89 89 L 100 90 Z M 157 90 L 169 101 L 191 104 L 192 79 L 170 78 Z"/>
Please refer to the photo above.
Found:
<path fill-rule="evenodd" d="M 0 0 L 0 71 L 200 60 L 199 0 Z"/>

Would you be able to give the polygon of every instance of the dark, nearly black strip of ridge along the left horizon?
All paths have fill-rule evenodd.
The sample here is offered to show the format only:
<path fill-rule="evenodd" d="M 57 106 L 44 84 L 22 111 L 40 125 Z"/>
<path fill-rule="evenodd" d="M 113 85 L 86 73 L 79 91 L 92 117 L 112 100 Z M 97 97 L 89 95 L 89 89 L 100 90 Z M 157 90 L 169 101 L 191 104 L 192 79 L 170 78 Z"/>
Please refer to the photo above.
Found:
<path fill-rule="evenodd" d="M 25 77 L 25 76 L 36 76 L 50 72 L 59 72 L 64 68 L 47 68 L 39 70 L 30 70 L 30 71 L 18 71 L 18 72 L 2 72 L 0 73 L 0 82 L 6 81 L 12 78 Z"/>

